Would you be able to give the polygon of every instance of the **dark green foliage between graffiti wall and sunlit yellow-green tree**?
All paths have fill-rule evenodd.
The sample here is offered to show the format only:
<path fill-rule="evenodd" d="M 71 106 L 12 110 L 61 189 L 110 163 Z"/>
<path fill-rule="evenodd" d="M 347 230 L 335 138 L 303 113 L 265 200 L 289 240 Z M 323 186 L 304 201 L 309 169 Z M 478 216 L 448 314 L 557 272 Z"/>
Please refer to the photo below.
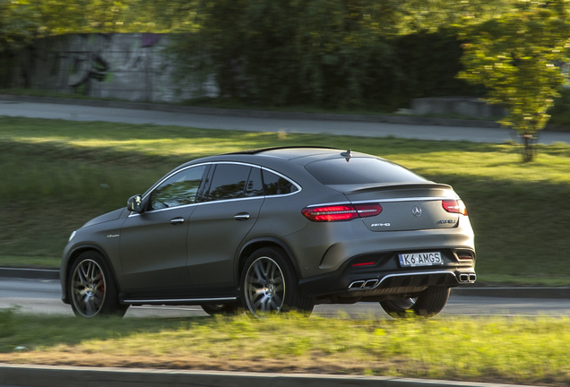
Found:
<path fill-rule="evenodd" d="M 462 54 L 456 26 L 503 2 L 472 3 L 196 0 L 191 33 L 178 35 L 170 53 L 179 79 L 201 84 L 213 75 L 224 97 L 396 107 L 478 92 L 453 79 Z"/>

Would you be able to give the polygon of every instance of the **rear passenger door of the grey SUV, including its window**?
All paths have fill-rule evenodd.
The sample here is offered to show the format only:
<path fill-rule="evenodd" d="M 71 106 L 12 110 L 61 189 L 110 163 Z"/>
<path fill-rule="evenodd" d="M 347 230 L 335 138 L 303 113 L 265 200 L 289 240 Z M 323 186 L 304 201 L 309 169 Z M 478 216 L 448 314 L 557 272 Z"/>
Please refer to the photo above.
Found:
<path fill-rule="evenodd" d="M 220 291 L 235 287 L 235 256 L 262 204 L 261 168 L 239 163 L 212 166 L 188 228 L 187 266 L 194 286 Z"/>

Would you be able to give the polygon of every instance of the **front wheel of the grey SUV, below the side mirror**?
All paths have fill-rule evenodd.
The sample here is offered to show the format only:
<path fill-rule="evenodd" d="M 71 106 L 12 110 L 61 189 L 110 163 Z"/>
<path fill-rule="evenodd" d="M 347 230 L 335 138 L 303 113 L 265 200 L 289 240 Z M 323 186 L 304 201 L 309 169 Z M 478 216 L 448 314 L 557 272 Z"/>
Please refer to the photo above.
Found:
<path fill-rule="evenodd" d="M 128 308 L 119 304 L 115 279 L 107 262 L 96 251 L 84 252 L 73 262 L 67 291 L 73 313 L 78 317 L 122 317 Z"/>

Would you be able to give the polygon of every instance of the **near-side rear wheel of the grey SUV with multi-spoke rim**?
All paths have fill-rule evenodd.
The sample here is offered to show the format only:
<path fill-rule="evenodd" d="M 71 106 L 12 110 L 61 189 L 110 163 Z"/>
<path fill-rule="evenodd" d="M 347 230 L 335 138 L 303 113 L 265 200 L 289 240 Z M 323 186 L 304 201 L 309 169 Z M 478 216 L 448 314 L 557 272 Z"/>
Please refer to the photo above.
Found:
<path fill-rule="evenodd" d="M 296 310 L 310 315 L 315 298 L 305 297 L 298 277 L 281 249 L 263 247 L 249 256 L 241 272 L 240 299 L 254 317 Z"/>

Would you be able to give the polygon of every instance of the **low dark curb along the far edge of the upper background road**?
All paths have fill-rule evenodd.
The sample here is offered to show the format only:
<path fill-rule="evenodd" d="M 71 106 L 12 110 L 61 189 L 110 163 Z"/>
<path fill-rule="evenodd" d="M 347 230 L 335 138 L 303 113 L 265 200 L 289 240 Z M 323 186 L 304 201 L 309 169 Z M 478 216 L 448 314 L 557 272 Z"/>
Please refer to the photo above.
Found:
<path fill-rule="evenodd" d="M 343 115 L 334 113 L 302 113 L 302 112 L 276 112 L 271 110 L 246 110 L 230 109 L 220 107 L 186 107 L 180 105 L 168 105 L 145 102 L 125 102 L 99 99 L 64 99 L 53 97 L 32 97 L 0 95 L 0 100 L 21 101 L 32 103 L 49 103 L 59 105 L 76 105 L 91 107 L 117 107 L 138 110 L 155 110 L 174 113 L 187 113 L 211 116 L 241 116 L 249 118 L 278 118 L 278 119 L 298 119 L 314 121 L 350 121 L 350 122 L 370 122 L 402 125 L 439 125 L 439 126 L 460 126 L 497 129 L 498 125 L 494 121 L 479 121 L 453 118 L 434 118 L 419 116 L 372 116 L 372 115 Z"/>

